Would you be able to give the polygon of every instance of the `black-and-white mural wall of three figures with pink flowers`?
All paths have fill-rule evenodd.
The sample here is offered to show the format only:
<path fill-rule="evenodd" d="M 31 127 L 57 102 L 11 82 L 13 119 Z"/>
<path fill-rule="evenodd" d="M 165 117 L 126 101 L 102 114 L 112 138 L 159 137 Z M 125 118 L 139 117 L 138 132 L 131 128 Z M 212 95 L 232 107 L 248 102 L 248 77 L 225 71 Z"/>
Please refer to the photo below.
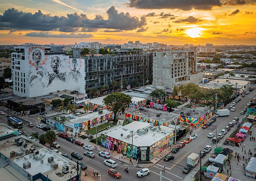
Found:
<path fill-rule="evenodd" d="M 84 60 L 65 54 L 45 54 L 45 47 L 26 47 L 30 96 L 46 95 L 57 89 L 84 92 Z M 24 81 L 25 82 L 25 81 Z"/>

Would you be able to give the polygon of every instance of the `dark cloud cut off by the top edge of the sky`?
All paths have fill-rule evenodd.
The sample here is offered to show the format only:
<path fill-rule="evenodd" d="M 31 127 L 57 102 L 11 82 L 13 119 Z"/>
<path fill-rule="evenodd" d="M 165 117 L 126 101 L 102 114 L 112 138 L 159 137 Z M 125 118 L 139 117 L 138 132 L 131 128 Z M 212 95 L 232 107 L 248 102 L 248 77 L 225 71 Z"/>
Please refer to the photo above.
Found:
<path fill-rule="evenodd" d="M 210 10 L 214 6 L 222 6 L 221 0 L 129 0 L 129 7 L 140 9 L 191 9 Z"/>

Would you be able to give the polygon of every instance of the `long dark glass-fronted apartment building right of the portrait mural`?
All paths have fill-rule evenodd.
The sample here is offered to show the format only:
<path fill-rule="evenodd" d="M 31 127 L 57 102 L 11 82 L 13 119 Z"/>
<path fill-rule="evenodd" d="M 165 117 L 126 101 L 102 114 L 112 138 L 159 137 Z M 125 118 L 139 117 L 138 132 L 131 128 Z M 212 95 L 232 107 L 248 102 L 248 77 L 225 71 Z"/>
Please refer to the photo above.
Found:
<path fill-rule="evenodd" d="M 152 53 L 135 51 L 115 51 L 116 54 L 85 57 L 85 90 L 100 88 L 111 82 L 127 80 L 127 85 L 142 82 L 142 76 L 152 82 Z M 109 88 L 112 91 L 113 88 Z"/>

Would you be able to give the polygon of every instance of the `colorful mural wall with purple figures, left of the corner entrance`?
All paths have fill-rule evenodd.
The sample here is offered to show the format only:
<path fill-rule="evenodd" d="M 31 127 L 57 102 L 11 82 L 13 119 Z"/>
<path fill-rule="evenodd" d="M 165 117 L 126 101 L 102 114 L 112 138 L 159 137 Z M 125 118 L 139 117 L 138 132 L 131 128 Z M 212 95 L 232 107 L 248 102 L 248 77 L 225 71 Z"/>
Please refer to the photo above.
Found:
<path fill-rule="evenodd" d="M 101 146 L 106 148 L 107 150 L 111 150 L 113 152 L 124 154 L 127 157 L 131 158 L 133 153 L 133 158 L 137 158 L 137 147 L 130 143 L 126 143 L 115 138 L 106 136 L 101 134 Z M 133 151 L 132 151 L 133 150 Z"/>

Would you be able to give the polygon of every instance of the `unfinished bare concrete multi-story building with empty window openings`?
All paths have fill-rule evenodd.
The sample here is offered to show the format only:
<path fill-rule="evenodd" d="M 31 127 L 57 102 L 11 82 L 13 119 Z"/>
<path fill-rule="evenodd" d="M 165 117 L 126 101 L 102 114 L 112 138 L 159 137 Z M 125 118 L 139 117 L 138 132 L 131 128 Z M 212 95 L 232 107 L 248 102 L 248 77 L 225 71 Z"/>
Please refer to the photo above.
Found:
<path fill-rule="evenodd" d="M 196 51 L 179 50 L 153 53 L 153 85 L 174 87 L 202 81 L 197 71 Z"/>

